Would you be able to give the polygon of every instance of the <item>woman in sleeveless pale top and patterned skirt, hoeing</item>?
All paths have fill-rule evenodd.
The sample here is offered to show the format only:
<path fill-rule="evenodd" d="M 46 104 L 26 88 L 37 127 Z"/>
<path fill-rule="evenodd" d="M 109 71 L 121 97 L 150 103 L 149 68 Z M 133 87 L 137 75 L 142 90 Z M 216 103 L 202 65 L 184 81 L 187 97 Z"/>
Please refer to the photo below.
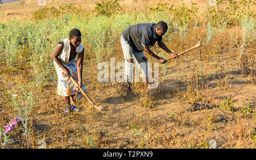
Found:
<path fill-rule="evenodd" d="M 82 84 L 82 61 L 84 59 L 84 46 L 81 44 L 81 32 L 73 29 L 69 32 L 69 38 L 61 40 L 53 51 L 53 64 L 55 66 L 58 83 L 57 94 L 64 96 L 67 102 L 65 112 L 80 111 L 78 107 L 71 106 L 71 100 L 74 102 L 76 94 L 76 86 L 69 79 L 72 76 L 79 84 L 79 88 L 88 92 Z M 76 55 L 78 58 L 76 60 Z M 82 94 L 78 92 L 77 99 L 82 98 Z"/>

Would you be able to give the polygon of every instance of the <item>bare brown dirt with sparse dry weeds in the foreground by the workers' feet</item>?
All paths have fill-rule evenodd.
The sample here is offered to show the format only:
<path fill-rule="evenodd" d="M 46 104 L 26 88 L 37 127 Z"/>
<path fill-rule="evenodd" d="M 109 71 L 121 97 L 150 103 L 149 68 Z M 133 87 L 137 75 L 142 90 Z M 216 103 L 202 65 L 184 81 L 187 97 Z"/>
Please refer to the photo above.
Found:
<path fill-rule="evenodd" d="M 164 81 L 167 87 L 160 86 L 158 103 L 150 109 L 141 107 L 138 96 L 119 96 L 118 90 L 108 84 L 102 91 L 88 86 L 93 100 L 105 105 L 106 111 L 94 110 L 83 98 L 77 102 L 81 113 L 67 116 L 64 115 L 65 101 L 55 94 L 56 87 L 35 91 L 35 96 L 39 98 L 31 114 L 35 141 L 45 140 L 46 144 L 51 144 L 47 145 L 48 148 L 92 147 L 86 142 L 88 137 L 97 140 L 98 148 L 139 148 L 142 141 L 143 148 L 202 148 L 203 143 L 215 140 L 217 148 L 255 148 L 255 144 L 250 141 L 250 133 L 255 127 L 254 115 L 242 116 L 239 112 L 218 108 L 222 99 L 231 97 L 234 106 L 250 104 L 255 111 L 255 86 L 247 82 L 246 75 L 233 69 L 229 70 L 228 90 L 217 86 L 214 73 L 205 75 L 209 79 L 209 89 L 202 91 L 202 95 L 213 107 L 189 112 L 187 110 L 191 104 L 180 95 L 181 89 L 186 90 L 183 88 L 186 79 L 180 79 L 180 75 L 189 74 L 191 64 L 200 61 L 188 61 L 185 57 L 187 56 L 180 57 L 175 62 L 176 65 L 183 64 L 182 67 L 168 65 L 171 76 Z M 210 68 L 208 65 L 205 69 Z M 85 78 L 89 77 L 87 69 L 84 70 Z M 5 90 L 11 89 L 13 85 L 2 75 L 1 86 Z M 14 85 L 15 78 L 19 76 L 22 75 L 14 77 Z M 1 89 L 1 119 L 7 122 L 11 117 L 5 114 L 5 90 Z M 3 125 L 3 121 L 1 122 Z M 10 148 L 15 148 L 20 143 L 18 137 L 13 139 Z"/>

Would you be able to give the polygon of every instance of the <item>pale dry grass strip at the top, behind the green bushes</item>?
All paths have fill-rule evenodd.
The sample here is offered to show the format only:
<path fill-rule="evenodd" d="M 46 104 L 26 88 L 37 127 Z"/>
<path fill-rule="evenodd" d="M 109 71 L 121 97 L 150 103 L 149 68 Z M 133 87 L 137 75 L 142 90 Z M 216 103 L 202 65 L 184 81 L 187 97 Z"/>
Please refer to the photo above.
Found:
<path fill-rule="evenodd" d="M 73 5 L 76 7 L 81 7 L 82 9 L 86 10 L 92 10 L 96 6 L 96 3 L 101 2 L 100 0 L 88 0 L 88 1 L 82 1 L 82 0 L 69 0 L 69 1 L 63 1 L 63 0 L 48 0 L 46 1 L 46 6 L 39 6 L 38 0 L 24 0 L 19 2 L 13 2 L 13 3 L 4 3 L 1 5 L 0 10 L 0 18 L 1 22 L 7 22 L 10 19 L 20 20 L 24 21 L 27 20 L 27 16 L 30 15 L 31 12 L 34 12 L 36 10 L 42 9 L 43 7 L 56 7 L 62 5 Z M 192 1 L 194 3 L 197 3 L 200 6 L 200 12 L 204 13 L 209 10 L 208 5 L 203 0 L 194 0 Z M 144 12 L 147 10 L 148 7 L 151 6 L 150 2 L 148 1 L 138 1 L 138 2 L 125 2 L 125 1 L 119 1 L 120 5 L 123 7 L 124 11 L 129 10 L 137 10 L 139 12 Z M 190 1 L 158 1 L 158 0 L 152 0 L 152 5 L 156 5 L 157 3 L 168 3 L 169 5 L 175 5 L 180 6 L 181 4 L 185 4 L 187 6 L 191 6 Z M 200 19 L 203 19 L 204 16 L 202 15 Z"/>

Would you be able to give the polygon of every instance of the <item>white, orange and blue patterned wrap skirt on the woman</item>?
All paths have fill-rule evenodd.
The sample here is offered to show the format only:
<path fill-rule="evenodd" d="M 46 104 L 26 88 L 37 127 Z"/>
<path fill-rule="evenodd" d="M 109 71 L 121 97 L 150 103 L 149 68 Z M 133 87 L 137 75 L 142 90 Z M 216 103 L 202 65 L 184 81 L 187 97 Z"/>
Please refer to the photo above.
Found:
<path fill-rule="evenodd" d="M 75 95 L 76 90 L 75 90 L 75 84 L 63 73 L 63 69 L 60 68 L 58 64 L 56 64 L 55 61 L 53 61 L 53 64 L 55 66 L 55 70 L 57 72 L 58 76 L 58 85 L 57 85 L 57 94 L 61 96 L 69 96 L 69 95 Z M 72 61 L 68 62 L 67 64 L 63 64 L 64 66 L 67 66 L 69 69 L 71 76 L 75 81 L 77 82 L 78 80 L 78 75 L 77 75 L 77 68 L 76 68 L 77 60 L 76 58 L 73 59 Z M 88 92 L 84 84 L 82 83 L 82 90 L 84 92 Z M 82 98 L 81 92 L 77 93 L 77 99 Z"/>

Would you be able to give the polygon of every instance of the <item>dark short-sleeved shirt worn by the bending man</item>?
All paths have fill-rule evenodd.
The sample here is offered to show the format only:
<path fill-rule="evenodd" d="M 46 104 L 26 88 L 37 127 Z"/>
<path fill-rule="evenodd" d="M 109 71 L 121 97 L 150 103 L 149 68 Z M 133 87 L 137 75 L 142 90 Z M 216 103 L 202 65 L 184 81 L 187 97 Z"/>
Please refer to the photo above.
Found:
<path fill-rule="evenodd" d="M 152 47 L 156 41 L 163 40 L 162 36 L 156 35 L 155 25 L 155 23 L 134 24 L 122 32 L 123 39 L 128 41 L 134 52 L 142 52 L 144 47 Z"/>

